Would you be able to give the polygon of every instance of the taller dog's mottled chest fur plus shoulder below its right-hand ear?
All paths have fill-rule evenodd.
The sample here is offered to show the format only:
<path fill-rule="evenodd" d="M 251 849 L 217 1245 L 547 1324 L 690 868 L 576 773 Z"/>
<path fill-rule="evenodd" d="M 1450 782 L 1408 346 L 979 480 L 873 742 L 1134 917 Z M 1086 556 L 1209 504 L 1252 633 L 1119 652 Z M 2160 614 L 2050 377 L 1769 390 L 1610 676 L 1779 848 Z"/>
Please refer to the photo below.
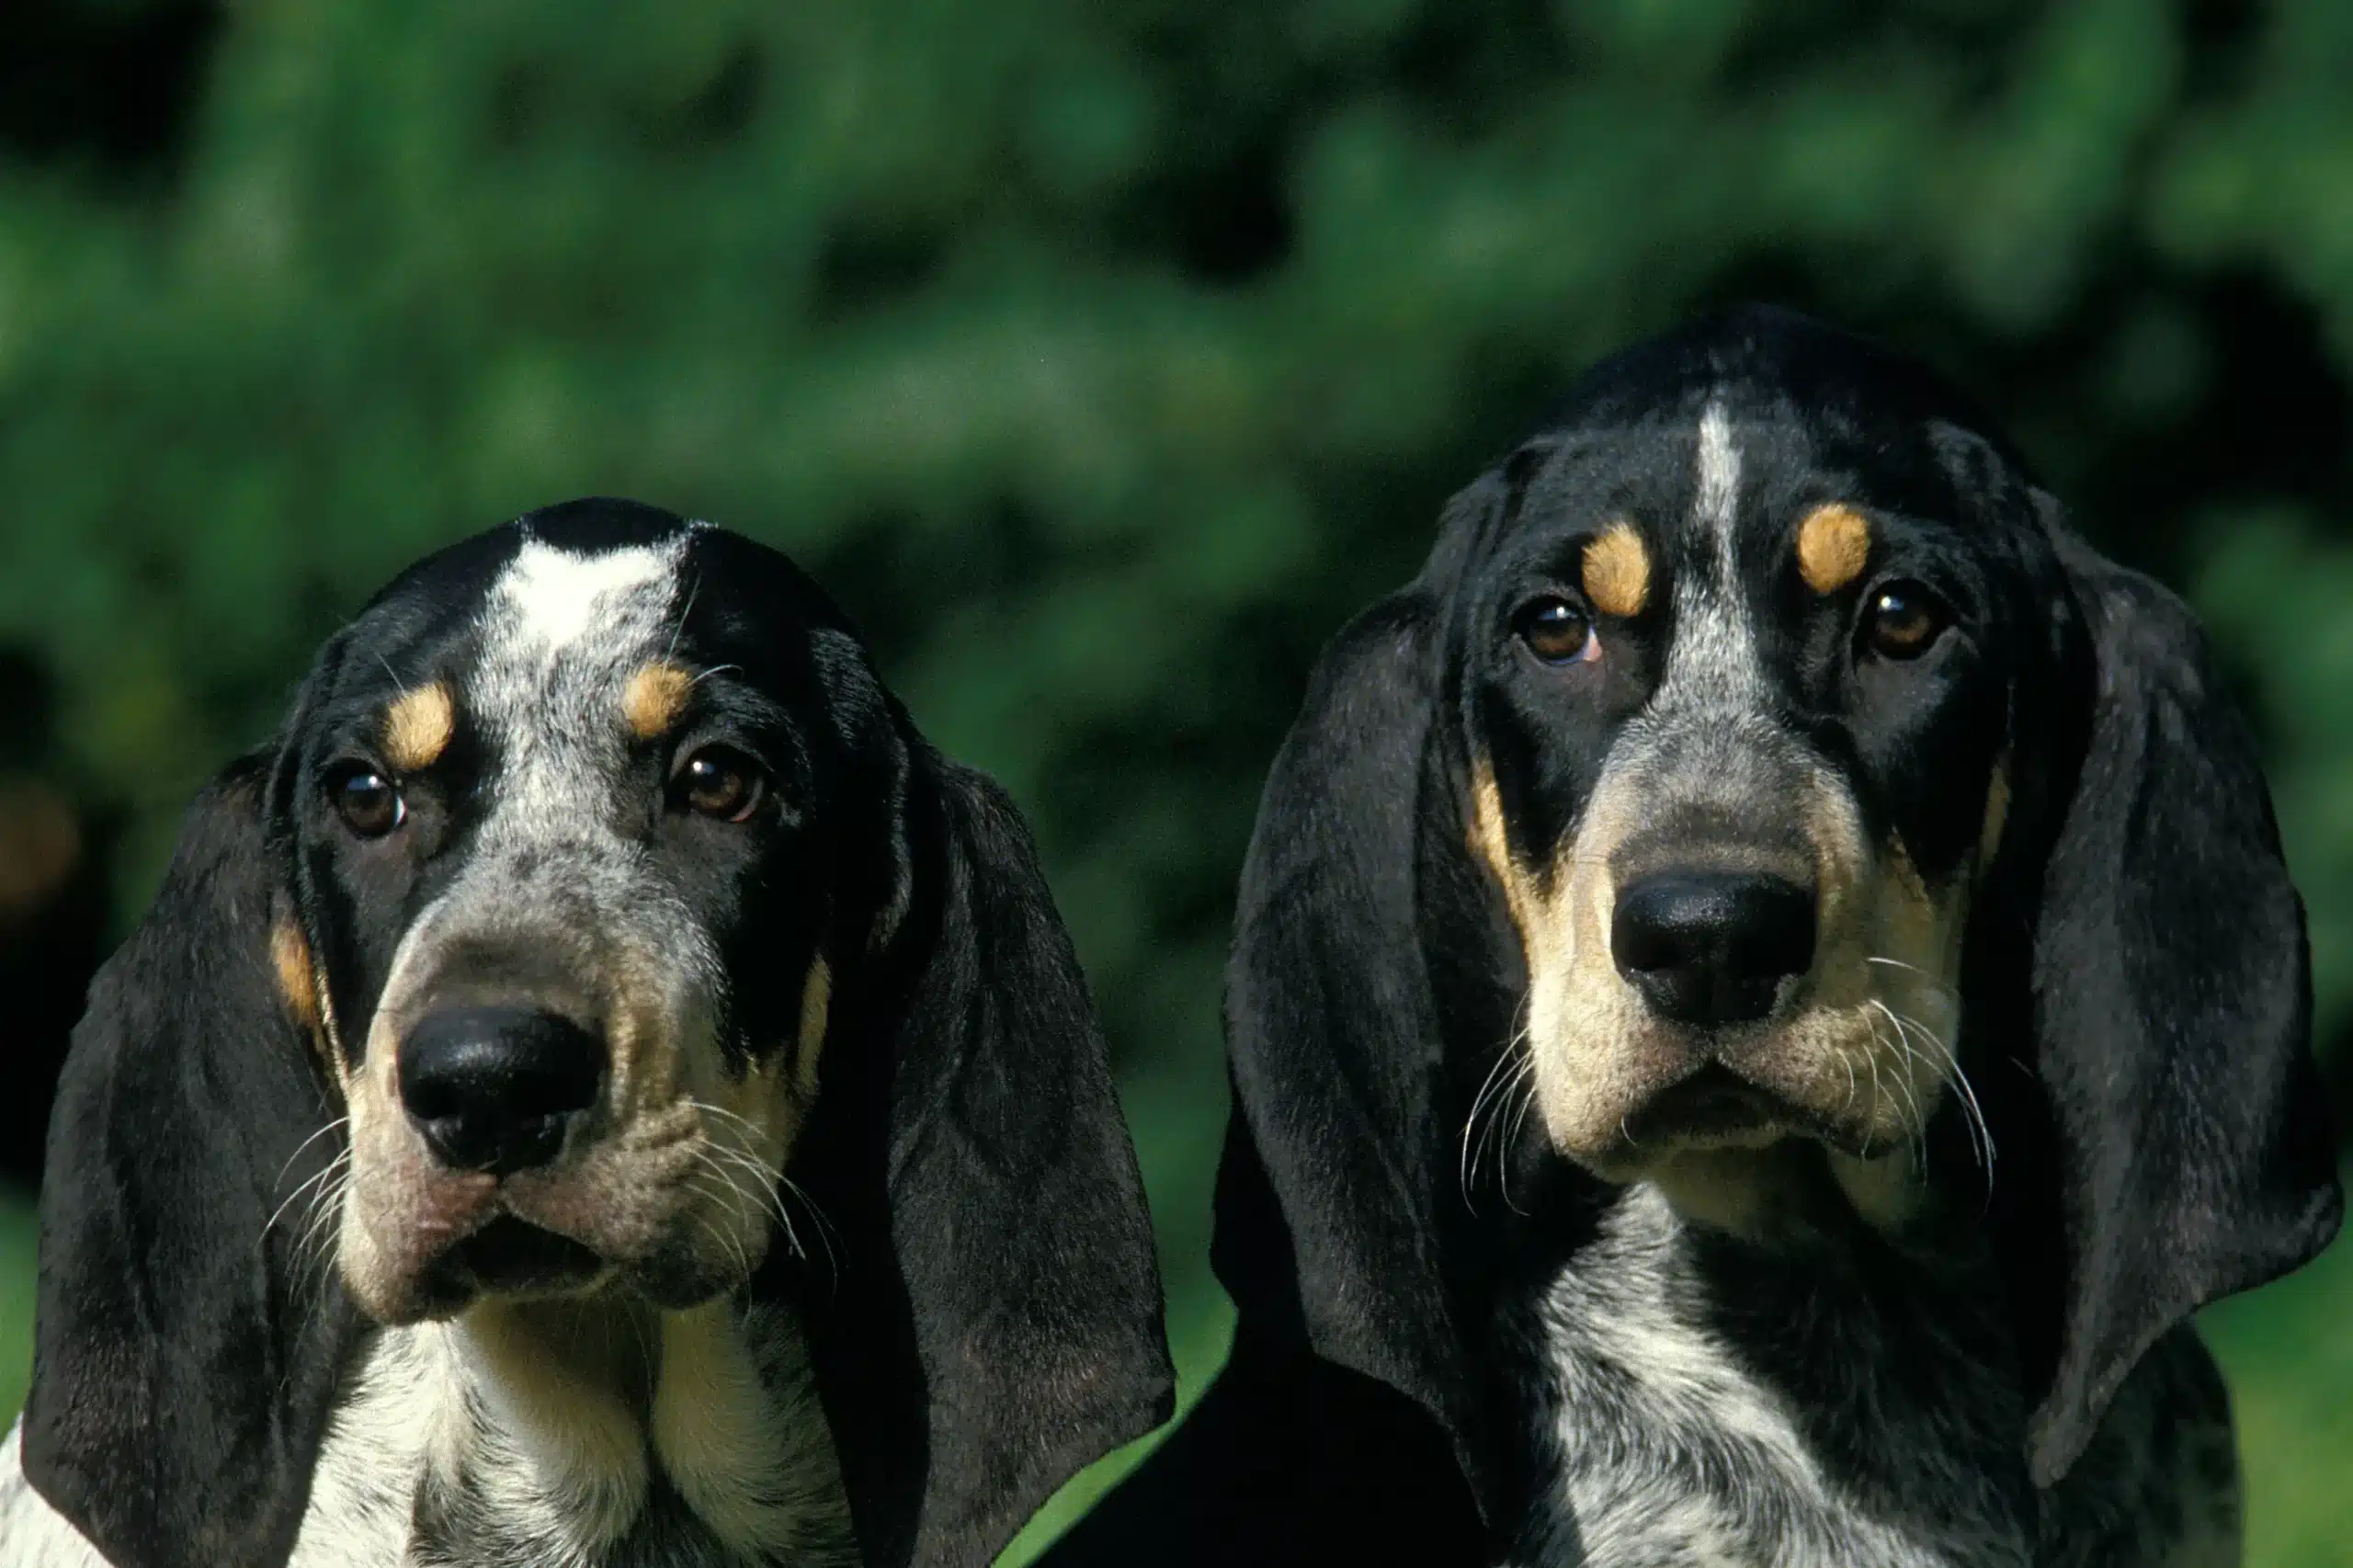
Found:
<path fill-rule="evenodd" d="M 1635 1184 L 1513 1314 L 1541 1464 L 1513 1568 L 2238 1561 L 2231 1410 L 2195 1333 L 2160 1340 L 2035 1493 L 1974 1210 L 1899 1236 L 1835 1201 L 1814 1220 L 1734 1238 Z"/>

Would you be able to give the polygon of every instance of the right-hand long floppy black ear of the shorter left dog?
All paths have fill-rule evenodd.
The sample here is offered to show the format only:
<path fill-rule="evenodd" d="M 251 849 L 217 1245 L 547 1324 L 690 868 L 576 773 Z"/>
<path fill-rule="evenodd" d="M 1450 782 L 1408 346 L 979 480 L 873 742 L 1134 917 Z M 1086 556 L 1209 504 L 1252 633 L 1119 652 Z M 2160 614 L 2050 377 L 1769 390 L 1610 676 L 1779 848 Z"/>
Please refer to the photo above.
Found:
<path fill-rule="evenodd" d="M 826 1048 L 809 1285 L 866 1561 L 988 1563 L 1047 1493 L 1172 1410 L 1144 1182 L 1028 829 L 908 737 L 915 895 Z"/>

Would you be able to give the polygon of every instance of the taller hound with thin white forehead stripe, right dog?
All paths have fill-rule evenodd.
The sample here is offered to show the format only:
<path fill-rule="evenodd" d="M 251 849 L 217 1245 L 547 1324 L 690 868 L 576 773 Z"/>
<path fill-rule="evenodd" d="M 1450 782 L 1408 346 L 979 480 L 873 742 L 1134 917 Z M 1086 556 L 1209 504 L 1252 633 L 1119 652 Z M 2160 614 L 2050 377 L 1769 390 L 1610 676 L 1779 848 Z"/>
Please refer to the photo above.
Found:
<path fill-rule="evenodd" d="M 1918 365 L 1713 318 L 1454 497 L 1228 1031 L 1235 1351 L 1061 1561 L 2235 1561 L 2301 906 L 2188 610 Z"/>

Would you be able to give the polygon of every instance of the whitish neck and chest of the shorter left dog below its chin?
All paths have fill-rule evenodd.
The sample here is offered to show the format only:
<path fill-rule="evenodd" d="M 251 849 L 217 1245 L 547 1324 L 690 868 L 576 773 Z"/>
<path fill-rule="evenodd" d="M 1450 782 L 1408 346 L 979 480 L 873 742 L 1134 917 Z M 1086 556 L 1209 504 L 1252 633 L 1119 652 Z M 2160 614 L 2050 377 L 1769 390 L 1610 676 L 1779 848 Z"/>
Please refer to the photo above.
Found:
<path fill-rule="evenodd" d="M 795 1314 L 621 1297 L 381 1330 L 320 1455 L 296 1568 L 854 1561 Z"/>

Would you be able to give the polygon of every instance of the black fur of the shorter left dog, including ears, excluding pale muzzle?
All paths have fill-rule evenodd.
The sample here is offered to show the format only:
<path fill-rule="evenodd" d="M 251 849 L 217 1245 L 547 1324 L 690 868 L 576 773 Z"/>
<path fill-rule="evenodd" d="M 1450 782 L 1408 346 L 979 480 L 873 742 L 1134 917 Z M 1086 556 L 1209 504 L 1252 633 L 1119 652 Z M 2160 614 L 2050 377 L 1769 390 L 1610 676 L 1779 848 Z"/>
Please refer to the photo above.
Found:
<path fill-rule="evenodd" d="M 767 549 L 631 501 L 532 513 L 402 574 L 322 650 L 280 739 L 191 808 L 155 906 L 92 989 L 52 1123 L 26 1476 L 125 1568 L 287 1559 L 372 1328 L 334 1248 L 301 1253 L 273 1224 L 346 1149 L 273 925 L 318 954 L 355 1064 L 501 758 L 461 713 L 409 782 L 398 864 L 329 826 L 322 777 L 412 683 L 464 676 L 485 589 L 525 539 L 682 542 L 673 652 L 708 671 L 687 739 L 755 751 L 781 805 L 760 836 L 692 817 L 631 831 L 713 932 L 736 1071 L 795 1038 L 812 956 L 833 965 L 791 1163 L 824 1236 L 772 1248 L 753 1300 L 802 1314 L 864 1561 L 986 1563 L 1169 1401 L 1085 979 L 1012 803 L 932 751 L 824 593 Z M 628 768 L 649 772 L 616 798 L 659 800 L 659 758 Z"/>

